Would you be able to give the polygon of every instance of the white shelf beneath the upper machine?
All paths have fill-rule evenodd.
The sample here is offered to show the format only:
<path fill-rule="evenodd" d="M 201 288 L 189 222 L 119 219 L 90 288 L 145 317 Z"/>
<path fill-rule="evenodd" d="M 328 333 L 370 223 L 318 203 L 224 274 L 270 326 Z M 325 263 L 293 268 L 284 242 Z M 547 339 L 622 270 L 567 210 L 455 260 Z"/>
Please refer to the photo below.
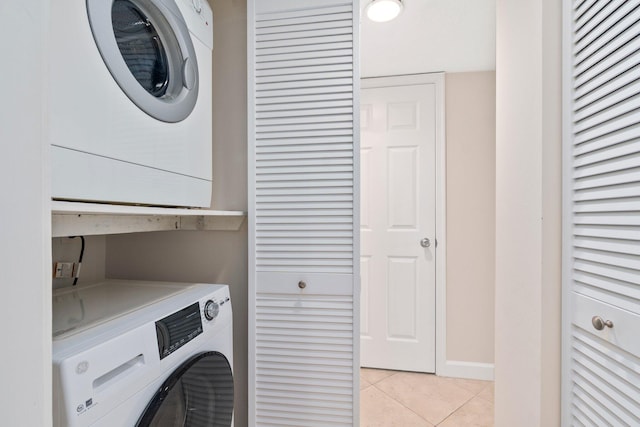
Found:
<path fill-rule="evenodd" d="M 246 213 L 101 203 L 51 202 L 53 237 L 148 231 L 237 231 Z"/>

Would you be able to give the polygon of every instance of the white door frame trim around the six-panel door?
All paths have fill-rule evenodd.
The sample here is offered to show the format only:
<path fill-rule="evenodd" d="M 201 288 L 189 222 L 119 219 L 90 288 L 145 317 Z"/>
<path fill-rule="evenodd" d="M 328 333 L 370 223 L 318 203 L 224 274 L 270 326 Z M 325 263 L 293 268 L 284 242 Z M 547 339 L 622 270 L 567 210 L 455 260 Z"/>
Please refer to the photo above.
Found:
<path fill-rule="evenodd" d="M 436 105 L 436 375 L 461 376 L 447 364 L 447 244 L 446 244 L 446 138 L 445 138 L 445 79 L 444 73 L 407 74 L 387 77 L 363 77 L 360 88 L 435 85 Z M 358 231 L 359 234 L 359 231 Z M 358 355 L 359 357 L 359 355 Z M 359 362 L 359 361 L 358 361 Z"/>

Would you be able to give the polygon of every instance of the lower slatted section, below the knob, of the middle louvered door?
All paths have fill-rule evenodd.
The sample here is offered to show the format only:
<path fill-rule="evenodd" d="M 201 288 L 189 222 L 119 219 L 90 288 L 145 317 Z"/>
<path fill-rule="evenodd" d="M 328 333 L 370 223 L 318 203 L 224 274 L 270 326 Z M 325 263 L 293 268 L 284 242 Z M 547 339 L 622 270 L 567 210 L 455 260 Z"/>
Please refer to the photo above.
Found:
<path fill-rule="evenodd" d="M 352 425 L 352 317 L 350 297 L 258 295 L 260 425 Z"/>

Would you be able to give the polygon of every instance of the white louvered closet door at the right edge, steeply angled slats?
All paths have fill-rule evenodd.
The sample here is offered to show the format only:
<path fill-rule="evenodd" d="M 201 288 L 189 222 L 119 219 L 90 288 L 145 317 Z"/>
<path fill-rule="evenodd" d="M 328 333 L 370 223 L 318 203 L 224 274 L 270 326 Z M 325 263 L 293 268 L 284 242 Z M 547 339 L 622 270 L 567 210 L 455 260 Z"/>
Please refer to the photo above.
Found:
<path fill-rule="evenodd" d="M 564 20 L 563 425 L 639 426 L 640 0 Z"/>

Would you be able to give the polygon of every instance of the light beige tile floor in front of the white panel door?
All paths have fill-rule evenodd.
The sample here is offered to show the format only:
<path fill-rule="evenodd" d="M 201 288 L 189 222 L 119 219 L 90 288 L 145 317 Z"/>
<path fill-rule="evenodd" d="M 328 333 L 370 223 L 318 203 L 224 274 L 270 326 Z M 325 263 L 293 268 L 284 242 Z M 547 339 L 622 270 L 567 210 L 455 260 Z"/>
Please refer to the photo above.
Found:
<path fill-rule="evenodd" d="M 493 382 L 360 370 L 362 427 L 492 427 Z"/>

